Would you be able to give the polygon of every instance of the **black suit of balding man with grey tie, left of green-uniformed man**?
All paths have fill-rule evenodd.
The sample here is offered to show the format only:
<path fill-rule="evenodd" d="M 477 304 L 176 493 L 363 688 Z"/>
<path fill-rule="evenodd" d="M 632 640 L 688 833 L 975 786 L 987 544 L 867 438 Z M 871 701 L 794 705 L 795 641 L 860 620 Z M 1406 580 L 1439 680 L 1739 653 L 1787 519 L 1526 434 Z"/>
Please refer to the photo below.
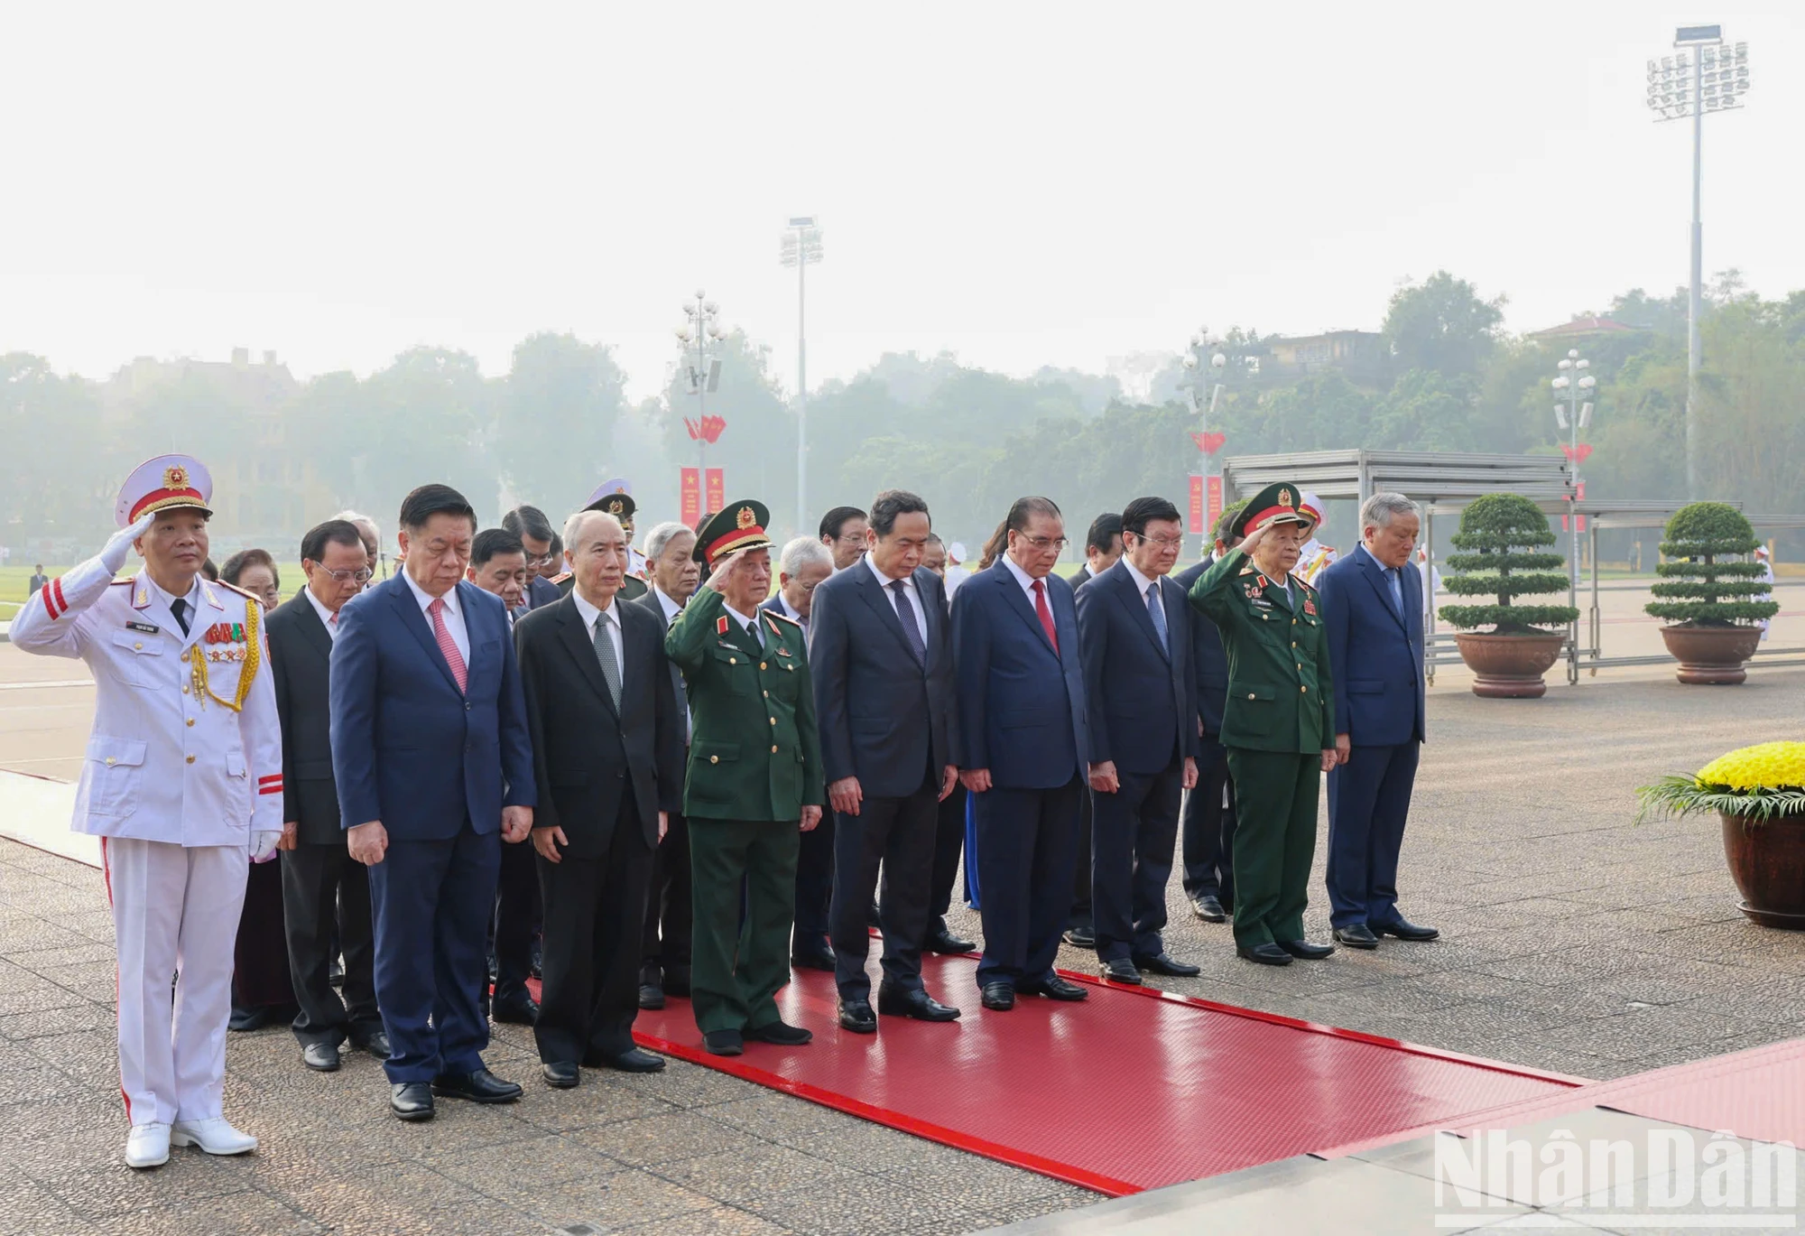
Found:
<path fill-rule="evenodd" d="M 540 1059 L 594 1061 L 634 1048 L 639 936 L 659 811 L 682 793 L 682 734 L 664 625 L 616 598 L 621 701 L 614 703 L 576 598 L 520 620 L 514 643 L 543 786 L 534 829 L 561 828 L 560 862 L 536 858 L 545 902 Z"/>

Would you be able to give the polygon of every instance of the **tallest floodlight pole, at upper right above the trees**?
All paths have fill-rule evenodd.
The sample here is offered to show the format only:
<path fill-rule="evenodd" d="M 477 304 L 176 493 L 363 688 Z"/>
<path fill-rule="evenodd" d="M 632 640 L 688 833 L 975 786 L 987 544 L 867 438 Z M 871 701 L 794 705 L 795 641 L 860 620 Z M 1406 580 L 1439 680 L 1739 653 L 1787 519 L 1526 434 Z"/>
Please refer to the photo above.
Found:
<path fill-rule="evenodd" d="M 1693 123 L 1693 255 L 1691 293 L 1686 302 L 1686 497 L 1699 497 L 1699 316 L 1704 309 L 1704 224 L 1699 219 L 1699 181 L 1704 172 L 1704 114 L 1742 107 L 1749 90 L 1749 45 L 1724 42 L 1722 25 L 1682 25 L 1673 45 L 1691 54 L 1648 61 L 1648 107 L 1657 121 Z"/>

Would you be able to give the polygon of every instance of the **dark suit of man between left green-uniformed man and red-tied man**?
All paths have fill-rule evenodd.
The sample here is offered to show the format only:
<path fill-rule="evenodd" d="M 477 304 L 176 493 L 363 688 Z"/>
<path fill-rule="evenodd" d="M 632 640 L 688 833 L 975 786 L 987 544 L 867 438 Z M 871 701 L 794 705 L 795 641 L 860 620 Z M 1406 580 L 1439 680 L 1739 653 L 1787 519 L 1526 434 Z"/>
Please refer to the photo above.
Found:
<path fill-rule="evenodd" d="M 946 585 L 926 567 L 910 578 L 912 627 L 899 618 L 895 589 L 868 562 L 823 580 L 809 609 L 809 674 L 827 784 L 857 777 L 863 795 L 857 815 L 834 813 L 834 979 L 847 999 L 870 994 L 866 913 L 879 862 L 884 981 L 921 987 L 940 781 L 953 763 L 955 685 Z"/>

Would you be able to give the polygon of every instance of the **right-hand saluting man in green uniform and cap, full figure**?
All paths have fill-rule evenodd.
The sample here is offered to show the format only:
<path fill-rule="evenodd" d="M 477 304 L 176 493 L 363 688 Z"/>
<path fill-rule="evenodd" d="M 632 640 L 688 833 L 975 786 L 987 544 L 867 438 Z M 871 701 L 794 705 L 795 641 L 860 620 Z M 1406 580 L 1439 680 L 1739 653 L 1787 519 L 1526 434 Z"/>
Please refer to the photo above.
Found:
<path fill-rule="evenodd" d="M 1222 746 L 1235 831 L 1235 950 L 1262 965 L 1319 960 L 1303 938 L 1316 791 L 1336 764 L 1334 685 L 1316 591 L 1292 575 L 1314 522 L 1298 486 L 1269 484 L 1229 524 L 1244 535 L 1191 585 L 1191 605 L 1222 631 L 1229 661 Z"/>

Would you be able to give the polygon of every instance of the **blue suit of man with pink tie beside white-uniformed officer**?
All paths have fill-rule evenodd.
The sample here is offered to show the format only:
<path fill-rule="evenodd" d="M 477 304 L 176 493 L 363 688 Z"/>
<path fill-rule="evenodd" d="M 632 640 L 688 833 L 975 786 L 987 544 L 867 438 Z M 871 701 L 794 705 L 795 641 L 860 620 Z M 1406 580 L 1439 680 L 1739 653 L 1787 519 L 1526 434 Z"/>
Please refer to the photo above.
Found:
<path fill-rule="evenodd" d="M 457 602 L 469 636 L 462 692 L 399 575 L 339 611 L 332 643 L 339 819 L 388 833 L 370 907 L 393 1082 L 482 1068 L 502 808 L 536 802 L 507 613 L 475 584 L 458 584 Z"/>

